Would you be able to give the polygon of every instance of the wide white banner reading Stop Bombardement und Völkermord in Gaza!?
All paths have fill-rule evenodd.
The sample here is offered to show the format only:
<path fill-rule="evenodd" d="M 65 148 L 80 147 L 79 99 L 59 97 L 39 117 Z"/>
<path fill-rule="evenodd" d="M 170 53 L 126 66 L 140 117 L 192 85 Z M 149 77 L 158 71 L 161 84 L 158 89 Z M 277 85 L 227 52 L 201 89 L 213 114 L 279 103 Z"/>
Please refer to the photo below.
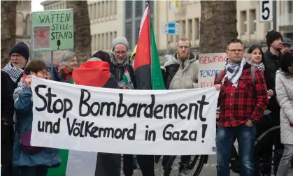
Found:
<path fill-rule="evenodd" d="M 117 154 L 215 154 L 214 87 L 124 90 L 32 78 L 31 145 Z"/>

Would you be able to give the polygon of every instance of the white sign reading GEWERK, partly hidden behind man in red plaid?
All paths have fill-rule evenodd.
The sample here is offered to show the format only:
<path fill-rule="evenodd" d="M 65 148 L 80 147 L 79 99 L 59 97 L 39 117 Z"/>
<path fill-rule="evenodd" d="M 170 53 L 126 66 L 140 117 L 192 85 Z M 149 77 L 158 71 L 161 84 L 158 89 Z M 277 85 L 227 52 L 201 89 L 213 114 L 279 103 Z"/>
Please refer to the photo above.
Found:
<path fill-rule="evenodd" d="M 251 63 L 251 54 L 244 54 L 244 59 Z M 215 75 L 224 69 L 226 53 L 199 54 L 199 87 L 214 85 Z"/>

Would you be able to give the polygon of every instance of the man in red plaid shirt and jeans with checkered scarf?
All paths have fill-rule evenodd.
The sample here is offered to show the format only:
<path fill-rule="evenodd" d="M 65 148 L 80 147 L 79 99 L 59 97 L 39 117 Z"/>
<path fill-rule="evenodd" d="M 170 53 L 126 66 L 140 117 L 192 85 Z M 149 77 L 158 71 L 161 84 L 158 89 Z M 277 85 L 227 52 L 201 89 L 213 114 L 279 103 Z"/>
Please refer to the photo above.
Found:
<path fill-rule="evenodd" d="M 251 65 L 243 58 L 241 40 L 232 39 L 227 45 L 227 64 L 215 87 L 220 90 L 220 114 L 217 129 L 217 175 L 230 175 L 229 163 L 234 136 L 241 156 L 241 176 L 254 176 L 255 122 L 262 118 L 268 105 L 266 81 L 262 71 L 255 68 L 252 80 Z"/>

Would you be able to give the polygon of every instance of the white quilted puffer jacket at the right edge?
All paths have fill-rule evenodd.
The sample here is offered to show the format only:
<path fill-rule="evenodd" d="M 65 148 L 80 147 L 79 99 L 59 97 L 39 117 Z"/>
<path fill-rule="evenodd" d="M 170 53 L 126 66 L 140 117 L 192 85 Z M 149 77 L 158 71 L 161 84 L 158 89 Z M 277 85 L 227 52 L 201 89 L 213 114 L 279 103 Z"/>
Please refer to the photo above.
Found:
<path fill-rule="evenodd" d="M 280 104 L 281 142 L 293 145 L 293 75 L 277 71 L 276 93 Z M 291 123 L 291 124 L 290 124 Z"/>

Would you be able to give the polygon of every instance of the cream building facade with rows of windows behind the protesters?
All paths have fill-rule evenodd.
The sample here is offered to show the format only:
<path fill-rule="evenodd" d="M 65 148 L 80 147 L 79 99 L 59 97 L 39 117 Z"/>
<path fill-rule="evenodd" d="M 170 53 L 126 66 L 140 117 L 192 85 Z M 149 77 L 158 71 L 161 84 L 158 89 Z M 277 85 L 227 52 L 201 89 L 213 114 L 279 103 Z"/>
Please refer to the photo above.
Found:
<path fill-rule="evenodd" d="M 137 41 L 141 18 L 146 1 L 87 1 L 91 22 L 92 54 L 98 50 L 110 52 L 111 41 L 125 36 L 129 52 Z M 179 38 L 190 38 L 194 52 L 199 49 L 201 3 L 199 0 L 178 1 L 177 13 L 171 8 L 172 1 L 149 1 L 152 24 L 159 54 L 176 50 Z M 66 8 L 65 1 L 44 1 L 45 10 Z M 237 31 L 245 47 L 260 43 L 266 50 L 266 33 L 273 29 L 272 22 L 259 22 L 259 1 L 237 1 Z M 284 37 L 293 37 L 293 1 L 277 1 L 277 30 Z M 164 22 L 178 22 L 179 35 L 163 33 Z"/>

